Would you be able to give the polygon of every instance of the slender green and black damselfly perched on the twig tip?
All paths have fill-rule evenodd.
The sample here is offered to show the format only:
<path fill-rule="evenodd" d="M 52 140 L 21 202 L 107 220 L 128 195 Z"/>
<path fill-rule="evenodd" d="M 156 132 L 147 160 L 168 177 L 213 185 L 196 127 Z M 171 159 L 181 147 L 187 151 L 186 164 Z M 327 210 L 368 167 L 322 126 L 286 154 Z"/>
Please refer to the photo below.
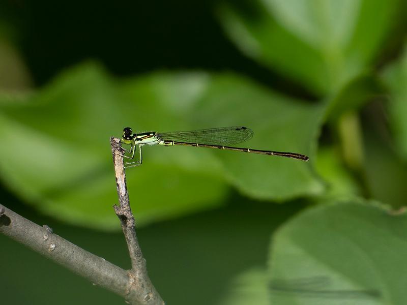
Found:
<path fill-rule="evenodd" d="M 260 155 L 281 156 L 293 159 L 308 161 L 308 156 L 297 153 L 286 153 L 283 151 L 260 150 L 252 148 L 240 148 L 226 145 L 234 145 L 250 140 L 253 131 L 243 126 L 221 127 L 210 129 L 199 129 L 192 131 L 176 131 L 167 133 L 144 132 L 133 133 L 130 127 L 123 130 L 122 143 L 130 145 L 130 150 L 125 149 L 130 156 L 124 156 L 133 160 L 135 151 L 138 151 L 139 160 L 126 162 L 127 168 L 140 165 L 142 163 L 141 146 L 143 145 L 183 145 L 194 147 L 219 148 L 226 150 L 243 151 Z"/>

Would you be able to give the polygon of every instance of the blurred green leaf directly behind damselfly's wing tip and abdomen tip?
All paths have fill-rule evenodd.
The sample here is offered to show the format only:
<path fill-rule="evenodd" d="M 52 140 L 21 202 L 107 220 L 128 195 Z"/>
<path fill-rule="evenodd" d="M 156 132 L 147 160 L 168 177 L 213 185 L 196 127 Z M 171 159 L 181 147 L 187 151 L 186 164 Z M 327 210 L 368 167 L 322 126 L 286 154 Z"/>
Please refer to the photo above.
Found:
<path fill-rule="evenodd" d="M 238 90 L 237 90 L 238 88 Z M 195 121 L 214 126 L 241 125 L 254 130 L 244 147 L 309 154 L 311 162 L 225 151 L 213 153 L 221 160 L 231 184 L 259 199 L 286 200 L 316 195 L 323 184 L 311 165 L 322 124 L 323 105 L 312 105 L 260 87 L 234 75 L 214 76 L 196 105 Z M 235 124 L 234 124 L 235 123 Z M 240 145 L 242 146 L 242 145 Z"/>

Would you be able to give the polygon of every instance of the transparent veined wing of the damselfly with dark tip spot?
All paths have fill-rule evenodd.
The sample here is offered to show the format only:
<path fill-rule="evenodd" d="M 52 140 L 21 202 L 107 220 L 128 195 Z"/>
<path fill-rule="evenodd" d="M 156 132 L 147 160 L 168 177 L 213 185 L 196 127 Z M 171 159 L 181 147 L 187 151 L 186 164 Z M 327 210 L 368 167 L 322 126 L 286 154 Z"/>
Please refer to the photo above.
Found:
<path fill-rule="evenodd" d="M 250 140 L 253 136 L 253 131 L 247 127 L 233 126 L 191 131 L 157 133 L 156 136 L 162 140 L 170 141 L 209 145 L 230 145 Z"/>

